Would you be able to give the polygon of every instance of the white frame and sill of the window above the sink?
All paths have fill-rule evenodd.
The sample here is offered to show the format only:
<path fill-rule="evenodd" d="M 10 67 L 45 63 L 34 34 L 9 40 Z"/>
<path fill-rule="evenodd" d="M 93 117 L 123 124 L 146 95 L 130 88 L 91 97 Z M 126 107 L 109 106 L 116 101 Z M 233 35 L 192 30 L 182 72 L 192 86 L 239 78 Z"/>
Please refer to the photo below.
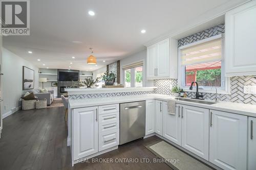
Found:
<path fill-rule="evenodd" d="M 201 43 L 205 43 L 211 40 L 219 39 L 221 38 L 222 44 L 221 44 L 221 51 L 222 51 L 222 58 L 221 58 L 221 87 L 217 87 L 218 93 L 221 94 L 229 94 L 230 93 L 230 80 L 229 77 L 225 77 L 225 37 L 224 34 L 218 34 L 216 36 L 212 36 L 209 38 L 205 38 L 200 41 L 196 41 L 187 45 L 180 46 L 178 48 L 178 84 L 179 86 L 184 90 L 188 92 L 195 92 L 196 88 L 193 88 L 193 90 L 189 90 L 189 86 L 185 86 L 185 66 L 181 65 L 181 50 L 190 46 L 198 45 Z M 210 60 L 209 60 L 210 61 Z M 184 70 L 184 71 L 183 71 Z M 199 86 L 200 92 L 205 93 L 216 93 L 215 86 Z"/>

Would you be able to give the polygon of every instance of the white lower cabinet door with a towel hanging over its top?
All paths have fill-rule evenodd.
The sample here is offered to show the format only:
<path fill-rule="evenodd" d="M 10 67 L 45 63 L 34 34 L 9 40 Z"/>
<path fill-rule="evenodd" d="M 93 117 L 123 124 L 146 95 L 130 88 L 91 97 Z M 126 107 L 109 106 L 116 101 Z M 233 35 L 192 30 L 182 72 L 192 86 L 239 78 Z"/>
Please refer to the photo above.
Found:
<path fill-rule="evenodd" d="M 176 106 L 176 114 L 168 114 L 167 102 L 163 102 L 163 137 L 181 145 L 180 106 Z"/>

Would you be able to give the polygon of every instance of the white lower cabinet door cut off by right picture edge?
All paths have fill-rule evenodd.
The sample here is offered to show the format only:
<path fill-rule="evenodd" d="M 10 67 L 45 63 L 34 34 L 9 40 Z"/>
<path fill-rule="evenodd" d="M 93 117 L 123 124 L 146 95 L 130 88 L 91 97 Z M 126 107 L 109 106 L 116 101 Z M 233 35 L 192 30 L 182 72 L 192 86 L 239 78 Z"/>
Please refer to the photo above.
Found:
<path fill-rule="evenodd" d="M 256 118 L 249 117 L 248 122 L 248 170 L 256 169 Z"/>

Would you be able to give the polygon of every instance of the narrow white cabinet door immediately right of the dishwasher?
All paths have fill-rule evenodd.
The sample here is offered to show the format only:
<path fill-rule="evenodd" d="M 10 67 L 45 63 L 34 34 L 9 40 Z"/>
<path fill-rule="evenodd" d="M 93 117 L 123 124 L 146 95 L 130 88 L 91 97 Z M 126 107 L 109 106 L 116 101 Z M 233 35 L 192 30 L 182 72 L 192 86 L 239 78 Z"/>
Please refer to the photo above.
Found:
<path fill-rule="evenodd" d="M 155 100 L 146 101 L 146 132 L 145 135 L 155 133 Z"/>

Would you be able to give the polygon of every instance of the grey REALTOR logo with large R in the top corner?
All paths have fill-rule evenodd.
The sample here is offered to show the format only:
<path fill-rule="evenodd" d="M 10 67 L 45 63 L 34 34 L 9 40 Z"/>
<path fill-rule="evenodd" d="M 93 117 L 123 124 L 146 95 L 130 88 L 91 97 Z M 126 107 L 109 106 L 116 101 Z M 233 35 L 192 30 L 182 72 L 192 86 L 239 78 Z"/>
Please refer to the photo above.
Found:
<path fill-rule="evenodd" d="M 29 35 L 29 0 L 1 0 L 0 35 Z"/>

